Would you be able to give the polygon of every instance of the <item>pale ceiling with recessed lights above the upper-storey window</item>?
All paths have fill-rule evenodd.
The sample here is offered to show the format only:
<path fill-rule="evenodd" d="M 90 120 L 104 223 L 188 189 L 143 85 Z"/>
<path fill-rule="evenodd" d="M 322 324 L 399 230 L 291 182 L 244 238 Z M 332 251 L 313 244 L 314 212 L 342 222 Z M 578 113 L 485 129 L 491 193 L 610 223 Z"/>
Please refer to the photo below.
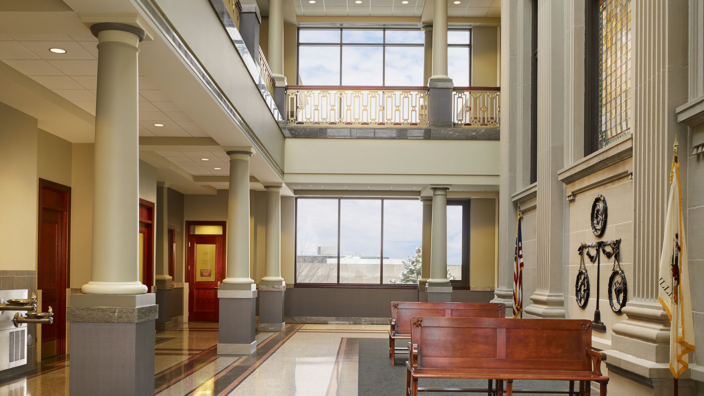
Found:
<path fill-rule="evenodd" d="M 432 7 L 432 0 L 293 0 L 298 16 L 391 16 L 420 17 L 423 8 Z M 499 18 L 501 17 L 501 0 L 448 0 L 448 17 Z M 425 13 L 427 14 L 427 12 Z"/>

